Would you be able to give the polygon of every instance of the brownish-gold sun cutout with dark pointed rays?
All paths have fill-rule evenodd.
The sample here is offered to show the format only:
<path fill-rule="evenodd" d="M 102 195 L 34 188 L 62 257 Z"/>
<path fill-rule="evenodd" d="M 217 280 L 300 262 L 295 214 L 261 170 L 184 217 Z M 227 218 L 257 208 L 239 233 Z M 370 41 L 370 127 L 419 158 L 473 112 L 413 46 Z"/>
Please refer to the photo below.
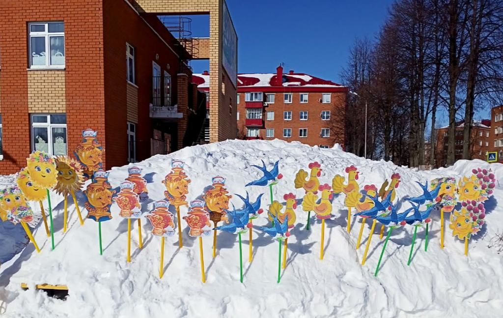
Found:
<path fill-rule="evenodd" d="M 82 167 L 76 160 L 65 155 L 57 156 L 56 170 L 58 183 L 54 190 L 58 194 L 67 196 L 72 192 L 80 191 L 84 183 L 84 176 Z"/>

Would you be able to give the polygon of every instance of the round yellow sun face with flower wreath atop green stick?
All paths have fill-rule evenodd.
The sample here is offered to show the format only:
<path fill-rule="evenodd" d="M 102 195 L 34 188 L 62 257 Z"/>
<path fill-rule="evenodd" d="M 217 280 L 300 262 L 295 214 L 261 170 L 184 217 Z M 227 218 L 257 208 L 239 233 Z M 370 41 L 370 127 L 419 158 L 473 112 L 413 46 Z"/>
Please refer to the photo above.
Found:
<path fill-rule="evenodd" d="M 57 183 L 56 163 L 49 154 L 43 151 L 33 151 L 26 159 L 27 170 L 32 183 L 42 189 L 50 189 Z"/>

